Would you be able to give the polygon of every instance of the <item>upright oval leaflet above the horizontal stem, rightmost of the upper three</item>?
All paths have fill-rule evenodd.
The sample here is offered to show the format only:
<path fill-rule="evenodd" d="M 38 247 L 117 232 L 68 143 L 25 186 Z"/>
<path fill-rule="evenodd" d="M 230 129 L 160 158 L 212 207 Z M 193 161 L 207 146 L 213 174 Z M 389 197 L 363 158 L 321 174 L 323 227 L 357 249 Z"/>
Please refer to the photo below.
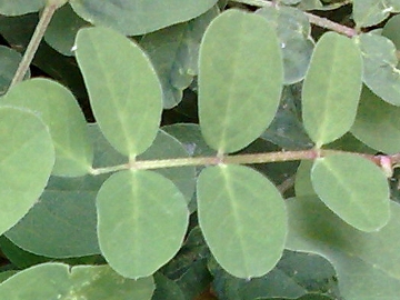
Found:
<path fill-rule="evenodd" d="M 324 33 L 312 54 L 302 90 L 304 128 L 317 147 L 334 141 L 351 128 L 361 73 L 361 54 L 353 41 L 334 32 Z"/>

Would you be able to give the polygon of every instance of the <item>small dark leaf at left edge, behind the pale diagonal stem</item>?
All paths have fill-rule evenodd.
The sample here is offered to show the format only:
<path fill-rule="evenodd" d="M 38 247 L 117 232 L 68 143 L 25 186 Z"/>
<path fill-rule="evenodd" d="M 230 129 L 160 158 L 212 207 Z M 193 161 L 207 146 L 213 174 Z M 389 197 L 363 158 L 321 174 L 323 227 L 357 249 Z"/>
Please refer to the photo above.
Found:
<path fill-rule="evenodd" d="M 21 54 L 16 50 L 0 46 L 0 96 L 7 92 L 21 58 Z M 28 70 L 26 78 L 29 77 L 30 71 Z"/>

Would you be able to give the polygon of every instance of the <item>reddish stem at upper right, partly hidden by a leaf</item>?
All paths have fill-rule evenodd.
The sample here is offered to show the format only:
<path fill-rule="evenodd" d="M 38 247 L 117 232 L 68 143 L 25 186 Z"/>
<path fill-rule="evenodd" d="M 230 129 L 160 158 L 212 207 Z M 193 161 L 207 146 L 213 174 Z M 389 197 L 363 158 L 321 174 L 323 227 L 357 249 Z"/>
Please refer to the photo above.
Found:
<path fill-rule="evenodd" d="M 277 6 L 274 2 L 270 2 L 266 0 L 231 0 L 231 1 L 238 3 L 244 3 L 253 7 L 259 7 L 259 8 Z M 333 30 L 349 38 L 352 38 L 358 34 L 357 30 L 353 28 L 336 23 L 331 20 L 328 20 L 327 18 L 321 18 L 309 12 L 304 12 L 304 14 L 309 19 L 310 23 L 313 23 L 316 26 Z"/>

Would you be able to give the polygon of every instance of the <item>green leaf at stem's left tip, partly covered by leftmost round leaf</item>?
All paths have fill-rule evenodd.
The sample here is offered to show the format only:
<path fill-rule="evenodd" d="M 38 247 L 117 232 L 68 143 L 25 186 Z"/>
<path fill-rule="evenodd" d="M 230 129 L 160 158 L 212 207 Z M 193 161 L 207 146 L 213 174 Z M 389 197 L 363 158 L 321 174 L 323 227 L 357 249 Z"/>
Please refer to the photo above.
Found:
<path fill-rule="evenodd" d="M 93 149 L 87 122 L 73 94 L 56 81 L 36 78 L 13 87 L 1 104 L 27 108 L 49 127 L 56 149 L 56 176 L 78 177 L 89 172 Z"/>

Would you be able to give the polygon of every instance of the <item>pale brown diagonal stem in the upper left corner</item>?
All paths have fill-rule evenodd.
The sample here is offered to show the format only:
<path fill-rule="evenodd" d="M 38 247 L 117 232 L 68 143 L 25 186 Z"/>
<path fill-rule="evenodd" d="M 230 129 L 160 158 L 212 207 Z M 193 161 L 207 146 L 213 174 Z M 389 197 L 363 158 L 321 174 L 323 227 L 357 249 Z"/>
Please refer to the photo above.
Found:
<path fill-rule="evenodd" d="M 26 76 L 30 63 L 32 62 L 32 59 L 34 57 L 34 53 L 37 52 L 40 41 L 42 40 L 46 29 L 48 28 L 50 20 L 52 18 L 52 16 L 54 14 L 56 10 L 58 9 L 59 4 L 54 4 L 54 3 L 48 3 L 44 9 L 42 14 L 40 16 L 40 20 L 38 22 L 38 26 L 34 29 L 33 36 L 27 47 L 27 50 L 23 54 L 23 58 L 20 62 L 20 64 L 18 66 L 18 69 L 16 71 L 14 77 L 12 78 L 12 81 L 10 83 L 10 87 L 13 87 L 14 84 L 17 84 L 18 82 L 22 81 L 23 77 Z"/>

